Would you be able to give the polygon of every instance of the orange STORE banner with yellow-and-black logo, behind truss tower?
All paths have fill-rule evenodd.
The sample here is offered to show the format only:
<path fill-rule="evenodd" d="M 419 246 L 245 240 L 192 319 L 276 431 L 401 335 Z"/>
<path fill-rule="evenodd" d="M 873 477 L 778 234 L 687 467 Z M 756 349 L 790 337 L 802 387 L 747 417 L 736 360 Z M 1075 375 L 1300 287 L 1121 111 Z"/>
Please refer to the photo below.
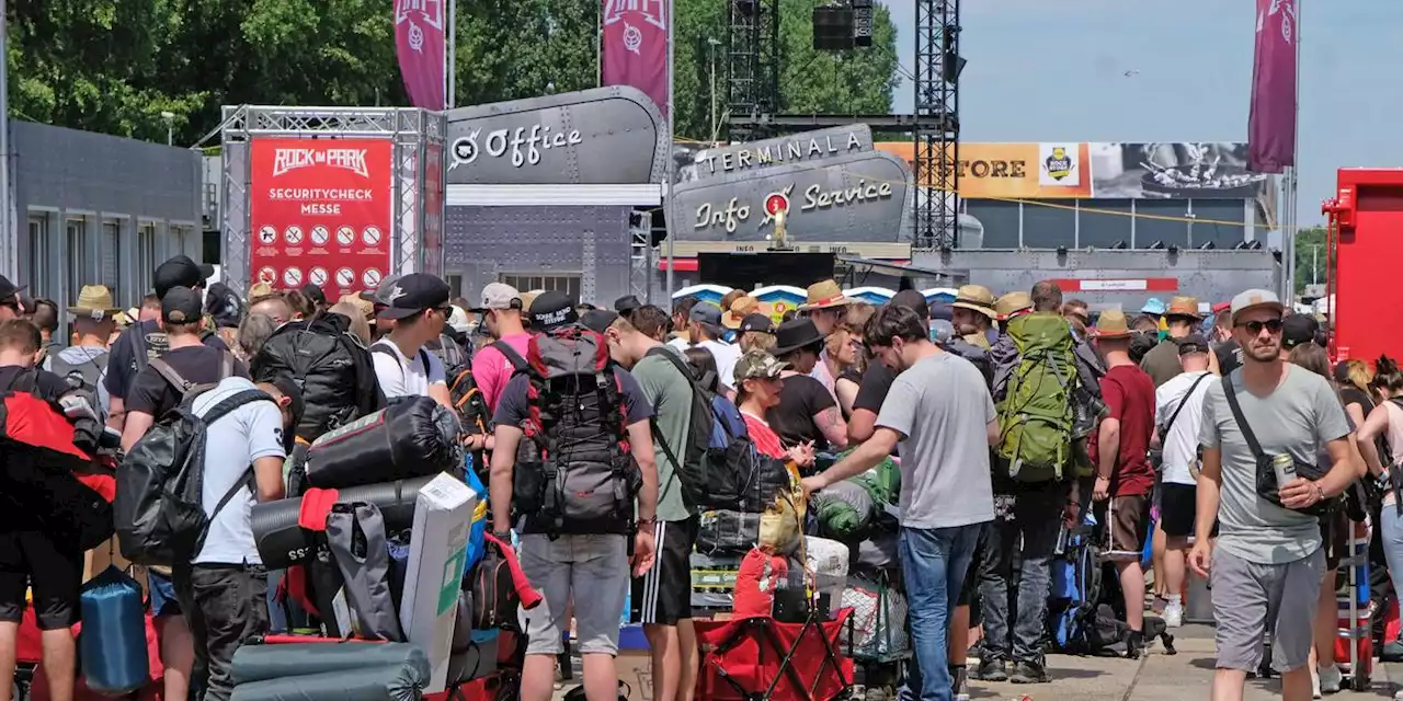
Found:
<path fill-rule="evenodd" d="M 905 158 L 915 172 L 915 144 L 884 142 L 878 150 Z M 1075 199 L 1092 196 L 1087 144 L 961 143 L 955 158 L 961 198 Z M 920 178 L 922 174 L 916 172 Z M 934 186 L 934 178 L 922 185 Z"/>

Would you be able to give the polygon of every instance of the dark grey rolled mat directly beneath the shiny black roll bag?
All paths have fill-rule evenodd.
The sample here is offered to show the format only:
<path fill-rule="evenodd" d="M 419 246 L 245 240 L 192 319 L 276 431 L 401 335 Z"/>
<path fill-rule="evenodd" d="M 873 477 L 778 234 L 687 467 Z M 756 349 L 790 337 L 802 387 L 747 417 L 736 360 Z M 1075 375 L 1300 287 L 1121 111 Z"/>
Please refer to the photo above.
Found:
<path fill-rule="evenodd" d="M 414 502 L 419 496 L 419 489 L 431 479 L 434 478 L 419 477 L 340 489 L 337 502 L 376 505 L 380 515 L 384 516 L 386 533 L 391 533 L 414 524 Z M 250 524 L 254 531 L 254 544 L 258 547 L 258 557 L 262 558 L 265 568 L 282 569 L 311 557 L 314 543 L 311 533 L 297 524 L 300 513 L 300 498 L 254 505 Z"/>

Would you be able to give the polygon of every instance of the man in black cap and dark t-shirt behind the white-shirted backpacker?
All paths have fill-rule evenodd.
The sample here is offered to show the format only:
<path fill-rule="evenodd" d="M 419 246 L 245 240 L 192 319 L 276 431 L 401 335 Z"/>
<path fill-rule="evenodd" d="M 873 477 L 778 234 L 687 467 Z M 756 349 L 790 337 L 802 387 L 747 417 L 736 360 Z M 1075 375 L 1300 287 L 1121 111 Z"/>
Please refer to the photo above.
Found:
<path fill-rule="evenodd" d="M 188 258 L 185 261 L 188 262 Z M 167 273 L 170 272 L 168 264 L 170 261 L 163 264 Z M 189 272 L 180 261 L 175 266 L 185 273 Z M 160 278 L 161 273 L 163 271 L 157 269 L 159 285 L 170 279 Z M 195 275 L 199 275 L 198 271 Z M 180 407 L 189 388 L 215 384 L 230 376 L 248 377 L 248 370 L 227 349 L 215 348 L 202 338 L 205 318 L 199 290 L 170 286 L 161 287 L 161 317 L 156 327 L 157 331 L 147 334 L 143 341 L 132 341 L 126 345 L 128 350 L 135 350 L 135 345 L 145 345 L 152 335 L 160 334 L 160 345 L 164 352 L 153 359 L 147 359 L 145 350 L 137 356 L 129 356 L 133 358 L 133 362 L 139 358 L 143 367 L 130 379 L 129 388 L 122 384 L 123 391 L 126 391 L 123 402 L 126 416 L 122 422 L 123 453 L 130 453 L 132 446 L 156 425 L 157 419 Z M 133 329 L 139 332 L 139 327 L 140 324 L 133 325 L 122 338 L 129 336 Z M 121 339 L 118 343 L 121 345 Z M 114 366 L 114 362 L 118 365 Z M 115 349 L 108 360 L 108 391 L 112 391 L 112 377 L 118 374 L 118 369 L 123 369 Z M 114 405 L 118 397 L 114 391 Z M 157 620 L 157 632 L 161 638 L 166 698 L 185 698 L 189 693 L 189 676 L 195 665 L 194 639 L 180 600 L 175 597 L 168 569 L 149 569 L 147 583 L 150 586 L 152 615 Z"/>

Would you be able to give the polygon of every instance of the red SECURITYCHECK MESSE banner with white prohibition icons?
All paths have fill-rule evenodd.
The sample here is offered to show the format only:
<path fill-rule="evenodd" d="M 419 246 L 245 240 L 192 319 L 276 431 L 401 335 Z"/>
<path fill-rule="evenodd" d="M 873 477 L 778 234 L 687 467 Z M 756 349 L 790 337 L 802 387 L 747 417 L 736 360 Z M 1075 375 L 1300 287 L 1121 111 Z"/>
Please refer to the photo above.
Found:
<path fill-rule="evenodd" d="M 248 269 L 275 289 L 313 283 L 327 299 L 390 272 L 393 147 L 382 139 L 254 139 Z"/>

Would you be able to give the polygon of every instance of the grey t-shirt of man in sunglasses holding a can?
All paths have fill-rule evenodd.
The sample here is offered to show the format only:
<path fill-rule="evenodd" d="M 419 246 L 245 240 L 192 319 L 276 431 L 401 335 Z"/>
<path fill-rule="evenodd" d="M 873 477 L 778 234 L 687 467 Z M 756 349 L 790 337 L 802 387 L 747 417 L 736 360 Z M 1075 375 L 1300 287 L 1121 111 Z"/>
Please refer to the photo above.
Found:
<path fill-rule="evenodd" d="M 1230 377 L 1243 418 L 1268 456 L 1289 453 L 1315 463 L 1326 443 L 1350 433 L 1338 397 L 1319 374 L 1288 365 L 1287 377 L 1266 398 L 1243 387 L 1240 370 Z M 1317 517 L 1257 496 L 1257 460 L 1233 421 L 1222 381 L 1208 387 L 1198 440 L 1205 449 L 1222 449 L 1218 547 L 1264 565 L 1295 562 L 1320 547 Z"/>

